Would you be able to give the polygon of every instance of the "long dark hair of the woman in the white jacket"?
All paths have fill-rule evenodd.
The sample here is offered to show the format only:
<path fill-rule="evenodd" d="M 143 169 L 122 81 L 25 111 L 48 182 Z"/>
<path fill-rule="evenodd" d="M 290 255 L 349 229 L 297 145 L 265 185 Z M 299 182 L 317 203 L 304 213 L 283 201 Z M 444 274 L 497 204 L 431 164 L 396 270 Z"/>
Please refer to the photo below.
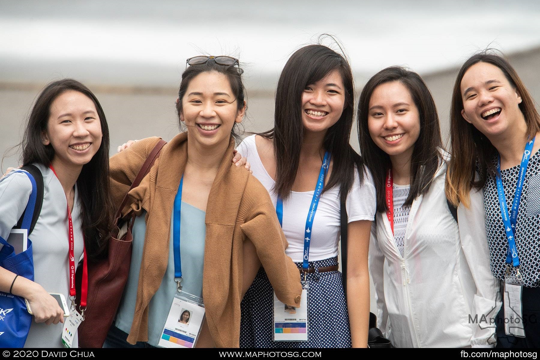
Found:
<path fill-rule="evenodd" d="M 442 156 L 439 150 L 442 149 L 442 140 L 437 108 L 424 80 L 416 72 L 400 66 L 387 67 L 377 72 L 364 86 L 358 101 L 358 141 L 362 157 L 373 175 L 379 212 L 388 209 L 385 182 L 388 169 L 392 168 L 392 162 L 389 155 L 375 145 L 369 135 L 368 109 L 375 88 L 392 81 L 399 81 L 407 87 L 420 116 L 420 135 L 414 144 L 410 165 L 410 192 L 404 205 L 411 205 L 417 196 L 429 191 Z"/>

